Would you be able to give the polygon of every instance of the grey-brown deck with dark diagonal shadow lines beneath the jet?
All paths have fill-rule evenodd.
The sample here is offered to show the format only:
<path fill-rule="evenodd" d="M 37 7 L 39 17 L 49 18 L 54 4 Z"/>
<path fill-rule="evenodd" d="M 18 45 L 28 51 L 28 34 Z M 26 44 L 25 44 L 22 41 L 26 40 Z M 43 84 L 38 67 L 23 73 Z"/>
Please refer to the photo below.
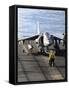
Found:
<path fill-rule="evenodd" d="M 65 78 L 65 58 L 56 56 L 55 66 L 49 66 L 49 59 L 44 55 L 33 55 L 18 48 L 18 82 L 63 80 Z"/>

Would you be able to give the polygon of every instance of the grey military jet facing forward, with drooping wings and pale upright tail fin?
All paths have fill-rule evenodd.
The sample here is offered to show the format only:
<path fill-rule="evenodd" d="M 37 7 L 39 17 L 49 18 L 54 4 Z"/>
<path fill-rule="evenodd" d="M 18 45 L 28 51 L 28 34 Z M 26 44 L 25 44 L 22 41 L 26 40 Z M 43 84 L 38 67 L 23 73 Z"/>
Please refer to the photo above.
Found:
<path fill-rule="evenodd" d="M 39 30 L 39 24 L 37 25 L 37 34 L 27 38 L 20 39 L 18 42 L 22 41 L 25 51 L 28 49 L 28 44 L 33 47 L 33 52 L 46 53 L 50 49 L 60 50 L 59 37 L 49 34 L 48 32 L 41 33 Z"/>

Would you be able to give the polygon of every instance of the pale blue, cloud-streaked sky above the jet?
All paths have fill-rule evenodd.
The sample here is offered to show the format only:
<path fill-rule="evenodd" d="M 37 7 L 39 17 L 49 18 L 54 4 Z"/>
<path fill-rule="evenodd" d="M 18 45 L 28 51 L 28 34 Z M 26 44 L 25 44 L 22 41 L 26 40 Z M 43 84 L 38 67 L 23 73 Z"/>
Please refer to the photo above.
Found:
<path fill-rule="evenodd" d="M 37 34 L 37 22 L 40 32 L 62 38 L 65 31 L 65 12 L 61 10 L 18 8 L 18 38 Z"/>

